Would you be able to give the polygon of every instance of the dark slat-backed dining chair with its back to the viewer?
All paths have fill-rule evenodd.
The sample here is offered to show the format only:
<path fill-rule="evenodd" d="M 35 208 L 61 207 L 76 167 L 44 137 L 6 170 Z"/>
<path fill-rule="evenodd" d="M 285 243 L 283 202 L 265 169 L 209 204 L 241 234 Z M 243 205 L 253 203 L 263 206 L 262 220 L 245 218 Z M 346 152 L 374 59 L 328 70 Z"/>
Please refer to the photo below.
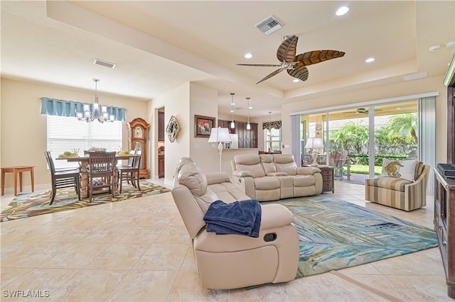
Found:
<path fill-rule="evenodd" d="M 92 201 L 93 190 L 109 188 L 109 193 L 115 197 L 114 172 L 116 152 L 90 152 L 87 166 L 88 192 L 90 202 Z"/>

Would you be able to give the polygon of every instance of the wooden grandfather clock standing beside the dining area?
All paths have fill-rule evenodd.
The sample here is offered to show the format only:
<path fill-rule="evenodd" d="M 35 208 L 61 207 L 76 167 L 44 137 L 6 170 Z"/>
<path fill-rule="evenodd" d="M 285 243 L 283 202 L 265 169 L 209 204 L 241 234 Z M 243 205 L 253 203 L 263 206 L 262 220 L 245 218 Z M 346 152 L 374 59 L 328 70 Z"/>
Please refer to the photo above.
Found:
<path fill-rule="evenodd" d="M 142 150 L 141 166 L 139 177 L 148 179 L 149 171 L 147 171 L 147 133 L 149 133 L 150 125 L 142 118 L 134 118 L 133 121 L 127 123 L 129 150 Z"/>

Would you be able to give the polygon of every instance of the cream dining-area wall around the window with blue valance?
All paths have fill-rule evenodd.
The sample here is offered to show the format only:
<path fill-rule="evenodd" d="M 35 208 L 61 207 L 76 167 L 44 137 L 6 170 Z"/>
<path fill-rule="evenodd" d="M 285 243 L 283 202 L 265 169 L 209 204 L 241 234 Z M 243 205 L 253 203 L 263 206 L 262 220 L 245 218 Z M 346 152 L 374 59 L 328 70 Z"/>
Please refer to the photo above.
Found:
<path fill-rule="evenodd" d="M 147 100 L 102 94 L 100 91 L 97 94 L 100 97 L 100 104 L 127 108 L 126 122 L 138 117 L 147 118 Z M 35 184 L 38 186 L 50 184 L 50 172 L 44 157 L 47 150 L 47 122 L 46 116 L 41 115 L 39 100 L 43 96 L 87 103 L 93 101 L 92 91 L 1 79 L 1 167 L 36 166 Z M 129 147 L 126 123 L 123 126 L 122 141 L 122 148 L 127 150 Z M 5 188 L 12 189 L 11 174 L 7 174 L 5 179 Z M 30 186 L 28 175 L 24 175 L 23 184 Z"/>

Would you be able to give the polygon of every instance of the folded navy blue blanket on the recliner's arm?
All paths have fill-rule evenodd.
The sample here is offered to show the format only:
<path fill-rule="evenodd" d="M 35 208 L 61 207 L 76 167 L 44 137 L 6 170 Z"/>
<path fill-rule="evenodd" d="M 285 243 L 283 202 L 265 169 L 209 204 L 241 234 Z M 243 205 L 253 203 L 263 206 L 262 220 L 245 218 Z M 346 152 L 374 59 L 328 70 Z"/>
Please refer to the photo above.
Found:
<path fill-rule="evenodd" d="M 207 232 L 217 235 L 237 234 L 259 237 L 261 227 L 261 205 L 257 199 L 235 201 L 213 201 L 204 216 Z"/>

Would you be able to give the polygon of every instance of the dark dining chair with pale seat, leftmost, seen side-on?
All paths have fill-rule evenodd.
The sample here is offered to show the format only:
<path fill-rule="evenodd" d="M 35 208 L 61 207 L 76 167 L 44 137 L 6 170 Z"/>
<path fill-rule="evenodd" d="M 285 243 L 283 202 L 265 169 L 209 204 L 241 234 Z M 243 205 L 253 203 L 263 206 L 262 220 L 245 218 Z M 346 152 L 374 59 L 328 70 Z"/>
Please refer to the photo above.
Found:
<path fill-rule="evenodd" d="M 80 200 L 80 172 L 79 169 L 55 169 L 53 159 L 49 151 L 44 152 L 45 160 L 47 160 L 50 177 L 52 179 L 52 193 L 50 195 L 50 203 L 55 200 L 57 189 L 74 187 L 77 198 Z"/>

